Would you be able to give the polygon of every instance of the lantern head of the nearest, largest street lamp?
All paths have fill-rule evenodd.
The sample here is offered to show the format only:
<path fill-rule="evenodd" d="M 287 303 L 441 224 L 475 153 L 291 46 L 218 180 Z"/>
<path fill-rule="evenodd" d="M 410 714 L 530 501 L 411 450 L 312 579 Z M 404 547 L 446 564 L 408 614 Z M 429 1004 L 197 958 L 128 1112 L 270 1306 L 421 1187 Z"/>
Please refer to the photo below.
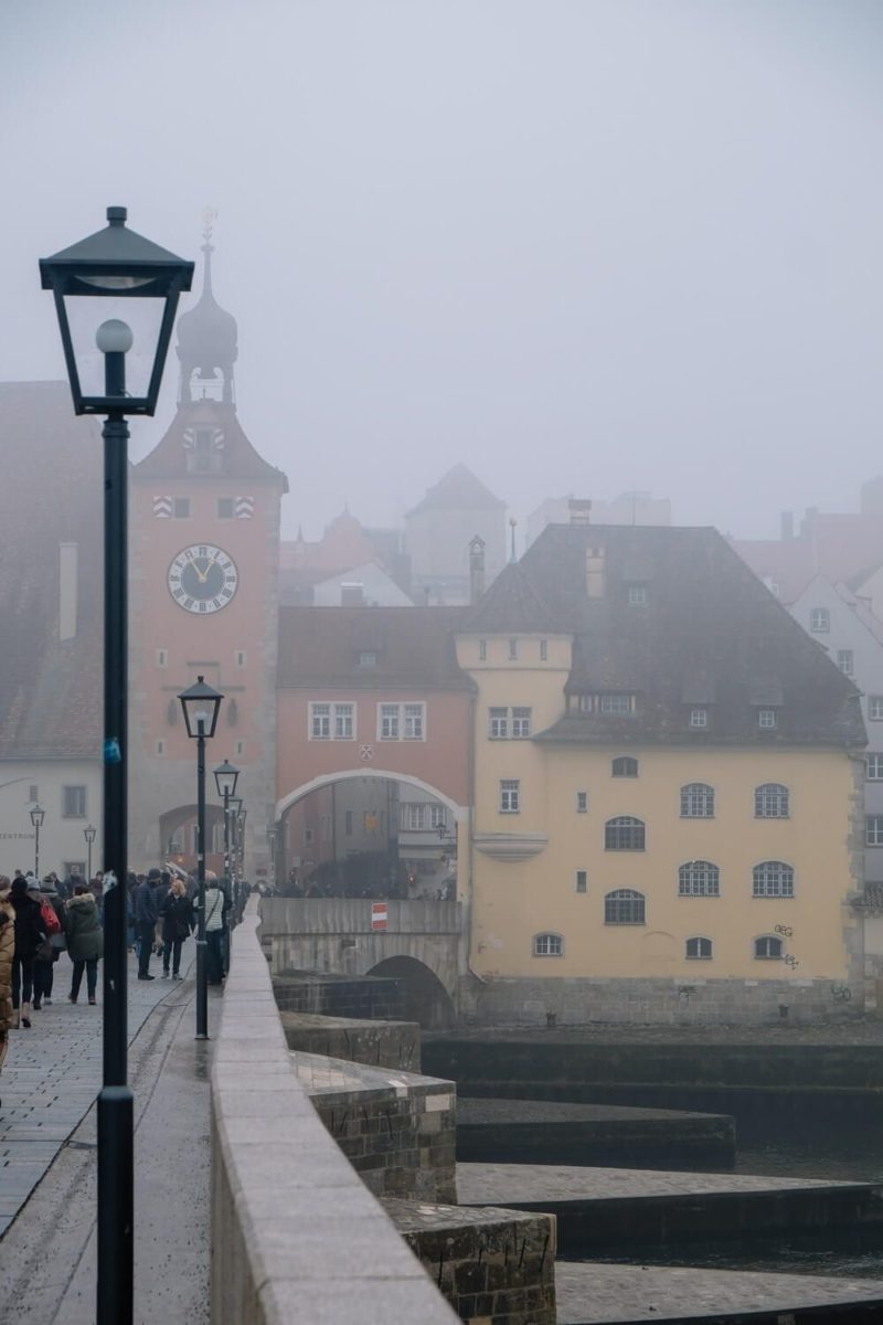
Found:
<path fill-rule="evenodd" d="M 103 231 L 40 260 L 40 280 L 54 295 L 74 412 L 152 415 L 193 264 L 127 229 L 124 207 L 109 207 Z M 109 322 L 126 325 L 128 346 Z M 124 387 L 109 386 L 123 382 L 123 372 L 106 376 L 109 355 L 124 356 Z"/>

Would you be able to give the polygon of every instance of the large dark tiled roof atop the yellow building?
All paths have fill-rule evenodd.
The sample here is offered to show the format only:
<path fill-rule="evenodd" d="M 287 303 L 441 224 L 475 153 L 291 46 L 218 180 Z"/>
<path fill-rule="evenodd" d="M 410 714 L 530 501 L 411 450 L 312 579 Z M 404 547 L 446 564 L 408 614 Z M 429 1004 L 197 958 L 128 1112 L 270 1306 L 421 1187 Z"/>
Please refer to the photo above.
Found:
<path fill-rule="evenodd" d="M 604 562 L 604 595 L 586 592 L 586 553 Z M 634 568 L 646 602 L 629 602 Z M 714 529 L 549 525 L 520 564 L 541 629 L 575 636 L 569 693 L 637 696 L 633 717 L 569 713 L 539 739 L 863 745 L 858 690 Z M 492 588 L 478 613 L 514 629 Z M 470 620 L 471 629 L 471 620 Z M 688 705 L 708 708 L 691 729 Z M 760 729 L 757 708 L 777 709 Z"/>

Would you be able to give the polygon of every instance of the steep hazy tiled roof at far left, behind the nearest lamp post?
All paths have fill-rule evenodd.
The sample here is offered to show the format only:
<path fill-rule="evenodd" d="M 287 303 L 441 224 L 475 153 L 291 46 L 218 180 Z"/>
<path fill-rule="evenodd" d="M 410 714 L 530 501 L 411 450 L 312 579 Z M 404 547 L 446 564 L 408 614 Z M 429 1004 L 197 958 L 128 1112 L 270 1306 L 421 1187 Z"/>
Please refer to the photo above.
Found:
<path fill-rule="evenodd" d="M 0 758 L 101 755 L 101 428 L 66 382 L 0 383 Z M 77 633 L 58 639 L 60 543 L 77 543 Z"/>

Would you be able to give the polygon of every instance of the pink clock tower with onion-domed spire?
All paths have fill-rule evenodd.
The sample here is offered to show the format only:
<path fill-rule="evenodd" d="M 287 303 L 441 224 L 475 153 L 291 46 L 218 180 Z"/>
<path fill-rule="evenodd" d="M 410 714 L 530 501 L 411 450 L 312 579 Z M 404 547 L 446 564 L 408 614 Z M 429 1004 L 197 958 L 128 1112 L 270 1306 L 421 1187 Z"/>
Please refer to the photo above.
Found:
<path fill-rule="evenodd" d="M 225 696 L 207 746 L 207 864 L 222 867 L 212 768 L 241 768 L 246 876 L 269 867 L 275 804 L 279 504 L 289 485 L 236 411 L 236 319 L 212 290 L 210 228 L 199 303 L 177 322 L 175 419 L 131 472 L 130 860 L 196 865 L 196 746 L 179 693 L 205 680 Z"/>

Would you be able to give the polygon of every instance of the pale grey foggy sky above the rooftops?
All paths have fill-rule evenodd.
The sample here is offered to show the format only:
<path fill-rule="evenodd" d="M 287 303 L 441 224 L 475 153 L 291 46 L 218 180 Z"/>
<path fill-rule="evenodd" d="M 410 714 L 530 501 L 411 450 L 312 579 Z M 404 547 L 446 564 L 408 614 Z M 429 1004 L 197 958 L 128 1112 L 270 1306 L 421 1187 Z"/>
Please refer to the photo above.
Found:
<path fill-rule="evenodd" d="M 882 66 L 882 0 L 3 0 L 0 379 L 64 375 L 38 257 L 109 203 L 199 257 L 210 204 L 287 534 L 395 521 L 457 460 L 520 517 L 854 507 Z M 135 456 L 175 388 L 169 358 Z"/>

